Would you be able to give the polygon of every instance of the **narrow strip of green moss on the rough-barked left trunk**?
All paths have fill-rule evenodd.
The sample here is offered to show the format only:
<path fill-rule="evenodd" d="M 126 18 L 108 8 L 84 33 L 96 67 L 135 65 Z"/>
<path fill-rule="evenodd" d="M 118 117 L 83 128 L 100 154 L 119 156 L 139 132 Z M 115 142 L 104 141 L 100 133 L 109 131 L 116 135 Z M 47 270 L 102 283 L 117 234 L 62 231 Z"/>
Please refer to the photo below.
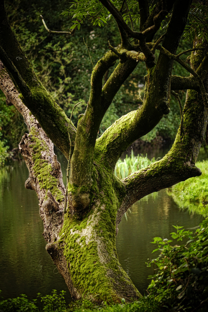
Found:
<path fill-rule="evenodd" d="M 32 159 L 34 161 L 34 172 L 38 179 L 39 185 L 41 189 L 50 190 L 52 195 L 55 197 L 57 202 L 61 202 L 64 199 L 64 195 L 58 188 L 58 179 L 52 176 L 52 167 L 51 164 L 48 163 L 47 160 L 42 159 L 41 152 L 43 149 L 48 151 L 47 145 L 40 139 L 35 136 L 35 129 L 31 129 L 31 133 L 29 134 L 30 140 L 32 142 L 32 150 L 33 156 Z M 34 142 L 34 143 L 33 143 Z M 30 147 L 31 147 L 30 145 Z"/>

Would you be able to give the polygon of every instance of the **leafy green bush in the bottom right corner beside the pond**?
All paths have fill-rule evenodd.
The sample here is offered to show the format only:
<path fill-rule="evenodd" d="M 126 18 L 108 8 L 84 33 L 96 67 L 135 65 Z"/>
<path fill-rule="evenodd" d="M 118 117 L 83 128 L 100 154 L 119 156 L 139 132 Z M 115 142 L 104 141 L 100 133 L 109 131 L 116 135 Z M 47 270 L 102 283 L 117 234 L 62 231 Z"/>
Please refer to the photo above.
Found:
<path fill-rule="evenodd" d="M 171 236 L 182 241 L 179 246 L 170 245 L 172 240 L 154 238 L 160 251 L 159 257 L 150 261 L 154 275 L 148 287 L 148 296 L 155 296 L 164 310 L 206 311 L 208 300 L 208 218 L 196 233 L 174 226 Z M 188 241 L 185 241 L 185 239 Z M 185 242 L 184 242 L 185 241 Z M 155 268 L 157 266 L 157 268 Z"/>

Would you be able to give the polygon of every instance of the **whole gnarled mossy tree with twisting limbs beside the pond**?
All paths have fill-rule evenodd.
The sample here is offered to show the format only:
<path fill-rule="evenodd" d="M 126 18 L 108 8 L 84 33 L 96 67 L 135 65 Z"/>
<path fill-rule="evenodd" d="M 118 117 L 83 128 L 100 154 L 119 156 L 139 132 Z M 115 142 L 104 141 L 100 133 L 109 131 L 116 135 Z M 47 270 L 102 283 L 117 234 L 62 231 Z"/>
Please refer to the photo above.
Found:
<path fill-rule="evenodd" d="M 73 8 L 82 14 L 77 16 L 78 22 L 72 29 L 80 27 L 81 15 L 87 18 L 83 12 L 91 14 L 87 3 Z M 47 252 L 72 296 L 79 299 L 88 294 L 97 302 L 121 302 L 121 298 L 131 301 L 141 294 L 121 268 L 115 246 L 117 226 L 123 214 L 147 194 L 201 175 L 195 162 L 208 120 L 208 44 L 206 37 L 201 36 L 206 31 L 207 3 L 139 0 L 130 2 L 130 11 L 125 0 L 92 0 L 89 4 L 91 10 L 95 9 L 94 19 L 90 16 L 92 22 L 107 21 L 111 15 L 115 18 L 121 45 L 114 48 L 109 42 L 109 51 L 94 66 L 87 109 L 79 115 L 77 128 L 33 71 L 8 24 L 3 0 L 0 1 L 1 89 L 7 101 L 23 115 L 29 129 L 19 144 L 29 170 L 25 186 L 37 193 Z M 176 55 L 176 50 L 190 10 L 196 13 L 196 17 L 190 15 L 192 22 L 188 26 L 193 37 L 199 6 L 202 26 L 193 40 L 189 66 L 181 60 L 182 53 Z M 134 24 L 139 20 L 140 30 L 135 31 Z M 152 42 L 162 22 L 165 33 Z M 156 49 L 160 51 L 157 59 Z M 103 85 L 103 76 L 116 60 L 120 62 Z M 172 75 L 173 61 L 180 63 L 191 76 Z M 136 66 L 142 64 L 147 71 L 143 105 L 116 120 L 97 139 L 113 98 Z M 186 89 L 182 112 L 180 98 L 173 90 Z M 160 161 L 119 180 L 114 175 L 117 160 L 129 145 L 170 112 L 171 93 L 177 97 L 181 109 L 181 125 L 171 150 Z M 68 160 L 66 189 L 52 142 Z"/>

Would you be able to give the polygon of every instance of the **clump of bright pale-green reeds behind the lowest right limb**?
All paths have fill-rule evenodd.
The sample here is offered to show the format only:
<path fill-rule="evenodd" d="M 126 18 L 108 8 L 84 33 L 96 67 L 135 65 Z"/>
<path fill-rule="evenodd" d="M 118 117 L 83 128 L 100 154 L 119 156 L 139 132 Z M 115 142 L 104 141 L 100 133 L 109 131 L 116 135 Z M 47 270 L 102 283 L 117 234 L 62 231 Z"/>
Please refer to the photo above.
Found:
<path fill-rule="evenodd" d="M 142 168 L 146 168 L 147 166 L 149 166 L 151 163 L 154 163 L 155 161 L 156 161 L 155 157 L 153 157 L 150 160 L 149 158 L 147 158 L 147 154 L 146 156 L 142 154 L 134 156 L 134 154 L 131 153 L 130 157 L 126 155 L 126 158 L 124 158 L 123 160 L 122 158 L 120 158 L 117 161 L 116 168 L 115 168 L 115 175 L 119 179 L 126 178 L 131 173 L 138 171 Z"/>

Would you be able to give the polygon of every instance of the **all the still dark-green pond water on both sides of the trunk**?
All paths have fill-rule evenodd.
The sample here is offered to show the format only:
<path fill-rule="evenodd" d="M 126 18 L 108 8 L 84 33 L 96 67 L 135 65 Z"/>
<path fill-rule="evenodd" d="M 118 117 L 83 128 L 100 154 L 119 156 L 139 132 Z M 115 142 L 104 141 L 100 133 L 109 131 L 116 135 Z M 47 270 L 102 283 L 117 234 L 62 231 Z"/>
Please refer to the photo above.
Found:
<path fill-rule="evenodd" d="M 63 172 L 66 163 L 62 162 Z M 65 168 L 64 168 L 65 167 Z M 34 299 L 40 292 L 50 294 L 53 289 L 67 291 L 62 276 L 57 273 L 45 250 L 43 225 L 39 216 L 36 193 L 26 190 L 28 170 L 24 162 L 17 162 L 0 170 L 0 290 L 4 298 L 26 294 Z M 64 178 L 66 184 L 66 178 Z M 148 285 L 147 259 L 154 236 L 168 238 L 172 225 L 195 227 L 203 217 L 180 210 L 166 190 L 154 193 L 134 204 L 124 215 L 116 238 L 119 261 L 132 281 L 144 294 Z"/>

